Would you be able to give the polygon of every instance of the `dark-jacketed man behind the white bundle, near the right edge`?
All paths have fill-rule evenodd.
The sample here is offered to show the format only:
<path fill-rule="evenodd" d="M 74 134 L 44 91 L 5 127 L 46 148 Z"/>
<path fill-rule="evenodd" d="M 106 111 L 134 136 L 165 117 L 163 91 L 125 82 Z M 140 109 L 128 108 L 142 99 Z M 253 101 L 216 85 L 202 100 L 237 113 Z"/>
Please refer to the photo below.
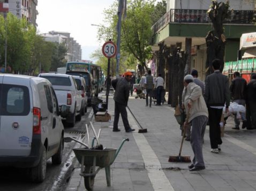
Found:
<path fill-rule="evenodd" d="M 235 71 L 233 76 L 234 79 L 232 80 L 229 88 L 232 95 L 232 99 L 237 104 L 245 106 L 247 82 L 244 78 L 240 76 L 240 73 L 238 71 Z M 239 130 L 240 121 L 237 119 L 236 114 L 235 125 L 235 128 L 232 129 Z M 242 129 L 244 128 L 246 128 L 246 120 L 243 121 Z"/>

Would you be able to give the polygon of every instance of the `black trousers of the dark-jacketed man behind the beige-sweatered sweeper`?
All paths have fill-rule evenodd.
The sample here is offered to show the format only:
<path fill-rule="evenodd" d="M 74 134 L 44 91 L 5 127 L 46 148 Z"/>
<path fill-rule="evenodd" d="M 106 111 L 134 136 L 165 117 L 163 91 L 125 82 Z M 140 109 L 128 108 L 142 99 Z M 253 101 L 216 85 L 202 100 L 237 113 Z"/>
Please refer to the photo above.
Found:
<path fill-rule="evenodd" d="M 222 144 L 221 140 L 221 115 L 223 109 L 209 107 L 209 124 L 210 124 L 210 147 L 218 148 Z"/>

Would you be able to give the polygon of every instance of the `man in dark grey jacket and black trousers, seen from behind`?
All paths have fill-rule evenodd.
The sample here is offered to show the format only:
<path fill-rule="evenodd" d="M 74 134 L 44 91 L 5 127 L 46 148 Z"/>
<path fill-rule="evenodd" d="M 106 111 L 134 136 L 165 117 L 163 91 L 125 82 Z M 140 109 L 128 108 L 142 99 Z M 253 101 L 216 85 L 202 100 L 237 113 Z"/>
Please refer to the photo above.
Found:
<path fill-rule="evenodd" d="M 230 92 L 228 77 L 220 73 L 221 61 L 215 59 L 212 62 L 214 73 L 205 79 L 205 102 L 209 112 L 210 125 L 210 152 L 219 153 L 221 151 L 221 128 L 220 121 L 223 107 L 226 104 L 228 112 Z"/>

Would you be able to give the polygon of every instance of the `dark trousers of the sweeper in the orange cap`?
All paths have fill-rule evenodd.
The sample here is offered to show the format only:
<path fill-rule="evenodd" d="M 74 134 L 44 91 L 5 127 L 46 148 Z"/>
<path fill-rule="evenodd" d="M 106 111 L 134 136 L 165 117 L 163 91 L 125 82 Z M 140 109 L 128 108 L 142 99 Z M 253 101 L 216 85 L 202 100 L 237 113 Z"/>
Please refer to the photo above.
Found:
<path fill-rule="evenodd" d="M 119 115 L 121 114 L 123 123 L 124 123 L 124 129 L 125 131 L 130 129 L 129 121 L 127 118 L 127 111 L 126 106 L 122 104 L 118 104 L 118 102 L 115 101 L 115 118 L 114 118 L 114 126 L 113 130 L 118 129 L 118 121 L 119 121 Z"/>

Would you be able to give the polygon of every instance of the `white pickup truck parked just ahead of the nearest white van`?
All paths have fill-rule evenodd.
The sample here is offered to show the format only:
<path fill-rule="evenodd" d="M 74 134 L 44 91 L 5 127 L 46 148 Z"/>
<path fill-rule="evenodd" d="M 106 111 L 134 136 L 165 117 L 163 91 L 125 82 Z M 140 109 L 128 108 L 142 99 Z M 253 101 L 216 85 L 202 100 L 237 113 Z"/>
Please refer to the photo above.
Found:
<path fill-rule="evenodd" d="M 39 77 L 50 81 L 57 95 L 59 106 L 67 106 L 69 112 L 65 121 L 73 127 L 76 121 L 80 121 L 82 117 L 82 95 L 79 92 L 81 87 L 77 86 L 71 75 L 44 73 L 39 74 Z"/>

